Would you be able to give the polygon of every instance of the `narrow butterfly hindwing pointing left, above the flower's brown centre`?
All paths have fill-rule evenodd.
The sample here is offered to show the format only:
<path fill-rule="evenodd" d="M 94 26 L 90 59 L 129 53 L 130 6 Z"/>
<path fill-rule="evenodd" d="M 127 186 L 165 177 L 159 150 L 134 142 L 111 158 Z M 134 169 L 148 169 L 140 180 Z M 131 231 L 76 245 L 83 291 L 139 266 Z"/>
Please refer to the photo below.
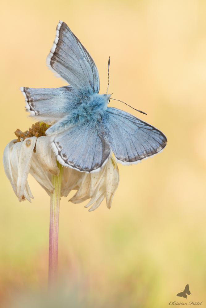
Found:
<path fill-rule="evenodd" d="M 60 120 L 69 111 L 74 109 L 81 100 L 81 92 L 74 87 L 36 89 L 21 87 L 26 110 L 30 116 L 40 120 Z"/>

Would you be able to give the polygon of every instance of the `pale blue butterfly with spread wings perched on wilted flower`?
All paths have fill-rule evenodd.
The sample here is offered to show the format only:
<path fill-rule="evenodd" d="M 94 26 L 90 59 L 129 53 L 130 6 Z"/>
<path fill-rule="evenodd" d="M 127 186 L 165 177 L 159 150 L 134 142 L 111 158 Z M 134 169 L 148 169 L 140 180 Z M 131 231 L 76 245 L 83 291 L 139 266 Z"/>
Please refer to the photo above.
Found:
<path fill-rule="evenodd" d="M 95 172 L 106 164 L 112 152 L 117 162 L 129 165 L 161 152 L 166 146 L 166 136 L 157 128 L 107 106 L 111 95 L 99 94 L 95 62 L 65 22 L 57 25 L 46 63 L 69 85 L 20 90 L 30 116 L 55 122 L 46 135 L 63 166 Z"/>

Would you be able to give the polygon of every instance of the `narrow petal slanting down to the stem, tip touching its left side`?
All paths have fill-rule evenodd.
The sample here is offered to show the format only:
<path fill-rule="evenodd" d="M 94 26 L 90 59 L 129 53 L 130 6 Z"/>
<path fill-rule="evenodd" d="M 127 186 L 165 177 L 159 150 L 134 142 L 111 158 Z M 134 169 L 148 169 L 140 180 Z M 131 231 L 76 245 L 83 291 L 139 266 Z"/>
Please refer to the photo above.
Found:
<path fill-rule="evenodd" d="M 31 167 L 29 173 L 43 186 L 45 186 L 51 193 L 54 192 L 54 186 L 50 182 L 46 172 L 41 167 L 37 157 L 36 153 L 33 152 L 32 155 L 32 161 L 31 161 Z"/>

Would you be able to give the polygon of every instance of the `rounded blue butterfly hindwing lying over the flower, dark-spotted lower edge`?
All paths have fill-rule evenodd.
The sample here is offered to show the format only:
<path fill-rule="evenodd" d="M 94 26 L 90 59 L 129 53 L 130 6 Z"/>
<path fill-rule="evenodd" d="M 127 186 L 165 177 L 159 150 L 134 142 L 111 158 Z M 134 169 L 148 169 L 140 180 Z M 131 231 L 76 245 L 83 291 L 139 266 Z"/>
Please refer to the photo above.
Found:
<path fill-rule="evenodd" d="M 75 124 L 52 136 L 51 142 L 60 164 L 81 172 L 99 171 L 111 156 L 101 119 Z"/>

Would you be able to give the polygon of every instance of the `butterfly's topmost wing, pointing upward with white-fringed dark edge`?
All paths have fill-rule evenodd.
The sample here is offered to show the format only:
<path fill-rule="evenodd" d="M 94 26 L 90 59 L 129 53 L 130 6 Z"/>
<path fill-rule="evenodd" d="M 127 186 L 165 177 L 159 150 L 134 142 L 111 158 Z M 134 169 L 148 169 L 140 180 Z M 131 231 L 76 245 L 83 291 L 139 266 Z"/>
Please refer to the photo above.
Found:
<path fill-rule="evenodd" d="M 99 93 L 99 73 L 94 60 L 65 22 L 59 21 L 46 63 L 83 94 Z"/>

